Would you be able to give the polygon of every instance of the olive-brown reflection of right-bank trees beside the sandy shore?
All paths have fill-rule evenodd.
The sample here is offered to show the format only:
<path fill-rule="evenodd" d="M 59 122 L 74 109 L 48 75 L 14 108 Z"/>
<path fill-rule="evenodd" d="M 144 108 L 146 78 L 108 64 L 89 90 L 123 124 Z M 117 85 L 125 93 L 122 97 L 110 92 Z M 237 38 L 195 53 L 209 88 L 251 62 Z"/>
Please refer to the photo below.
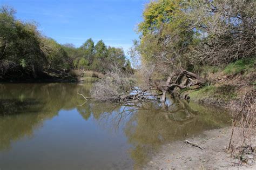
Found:
<path fill-rule="evenodd" d="M 125 134 L 134 148 L 131 157 L 139 168 L 148 161 L 152 150 L 165 142 L 184 139 L 203 130 L 224 126 L 228 117 L 211 108 L 176 101 L 158 111 L 139 110 L 126 124 Z"/>

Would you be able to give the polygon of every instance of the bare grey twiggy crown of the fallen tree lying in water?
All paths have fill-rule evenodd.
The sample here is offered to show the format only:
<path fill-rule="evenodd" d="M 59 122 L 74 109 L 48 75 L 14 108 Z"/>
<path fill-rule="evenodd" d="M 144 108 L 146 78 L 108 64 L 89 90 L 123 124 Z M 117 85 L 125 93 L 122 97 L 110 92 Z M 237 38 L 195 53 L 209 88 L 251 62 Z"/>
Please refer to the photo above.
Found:
<path fill-rule="evenodd" d="M 99 101 L 109 101 L 112 103 L 136 102 L 152 100 L 152 97 L 159 96 L 157 89 L 140 89 L 134 87 L 136 80 L 132 75 L 115 68 L 108 72 L 105 78 L 95 83 L 91 90 L 91 97 Z"/>

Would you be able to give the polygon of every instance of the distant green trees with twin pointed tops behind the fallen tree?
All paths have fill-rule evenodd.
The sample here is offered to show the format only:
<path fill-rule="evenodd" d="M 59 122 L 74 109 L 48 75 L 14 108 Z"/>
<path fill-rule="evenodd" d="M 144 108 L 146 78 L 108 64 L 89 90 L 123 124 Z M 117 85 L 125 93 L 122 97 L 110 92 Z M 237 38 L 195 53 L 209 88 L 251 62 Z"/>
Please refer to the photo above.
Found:
<path fill-rule="evenodd" d="M 64 44 L 64 49 L 72 60 L 73 67 L 102 73 L 111 71 L 113 66 L 131 70 L 130 61 L 126 60 L 123 49 L 106 46 L 103 40 L 94 44 L 91 38 L 78 48 Z"/>

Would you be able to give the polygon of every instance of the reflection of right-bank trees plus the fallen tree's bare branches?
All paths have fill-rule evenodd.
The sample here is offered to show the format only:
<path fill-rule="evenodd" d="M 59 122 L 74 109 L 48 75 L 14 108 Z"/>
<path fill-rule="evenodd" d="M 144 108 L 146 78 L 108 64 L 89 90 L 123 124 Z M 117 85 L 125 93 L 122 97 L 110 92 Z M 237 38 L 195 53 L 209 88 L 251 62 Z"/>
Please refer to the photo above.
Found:
<path fill-rule="evenodd" d="M 130 154 L 134 168 L 141 168 L 154 149 L 165 142 L 223 127 L 229 119 L 223 111 L 183 100 L 171 101 L 168 107 L 158 103 L 122 106 L 98 103 L 91 104 L 90 109 L 102 125 L 111 123 L 113 128 L 124 125 L 128 142 L 133 145 Z"/>

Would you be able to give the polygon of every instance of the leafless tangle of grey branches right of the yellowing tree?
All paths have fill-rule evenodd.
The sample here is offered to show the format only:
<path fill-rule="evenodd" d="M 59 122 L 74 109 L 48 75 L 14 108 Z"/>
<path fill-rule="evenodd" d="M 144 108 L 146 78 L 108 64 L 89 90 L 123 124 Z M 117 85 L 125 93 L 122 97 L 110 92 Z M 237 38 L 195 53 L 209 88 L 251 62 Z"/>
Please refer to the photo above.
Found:
<path fill-rule="evenodd" d="M 221 65 L 255 56 L 255 1 L 192 1 L 191 29 L 201 42 L 188 57 L 193 63 Z"/>

